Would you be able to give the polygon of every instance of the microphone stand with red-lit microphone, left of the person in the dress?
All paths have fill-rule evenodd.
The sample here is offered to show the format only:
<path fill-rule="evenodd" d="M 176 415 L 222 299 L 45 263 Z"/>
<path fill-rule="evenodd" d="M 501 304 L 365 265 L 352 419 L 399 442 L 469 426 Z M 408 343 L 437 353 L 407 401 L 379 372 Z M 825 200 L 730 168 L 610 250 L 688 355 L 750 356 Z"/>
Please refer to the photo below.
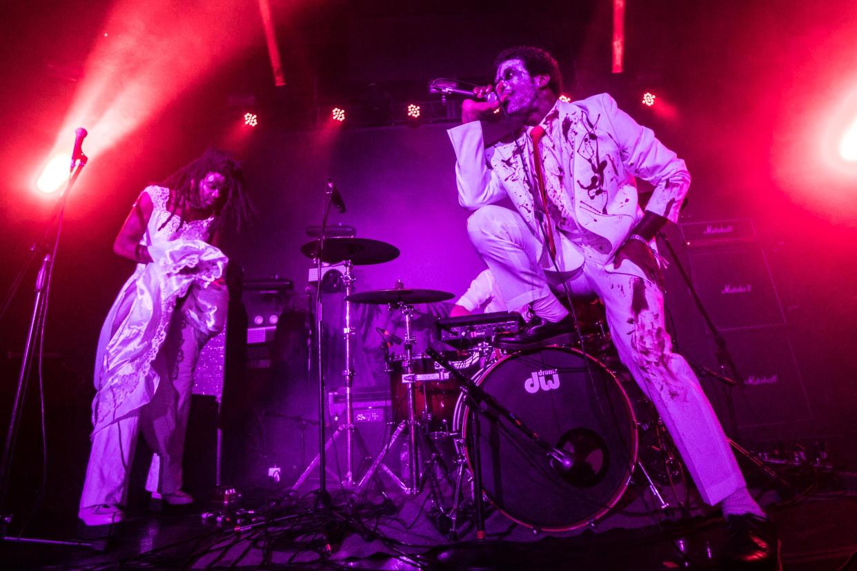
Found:
<path fill-rule="evenodd" d="M 16 278 L 13 287 L 9 292 L 9 296 L 3 305 L 3 312 L 9 306 L 12 297 L 15 295 L 15 290 L 21 283 L 24 271 L 27 266 L 35 259 L 37 255 L 41 255 L 39 250 L 46 251 L 42 264 L 39 266 L 39 273 L 36 276 L 35 283 L 35 299 L 33 300 L 33 314 L 30 318 L 29 329 L 27 330 L 27 338 L 24 342 L 24 350 L 21 354 L 21 370 L 18 373 L 18 383 L 15 388 L 15 400 L 12 402 L 12 412 L 9 415 L 9 427 L 6 430 L 6 438 L 3 443 L 3 457 L 0 459 L 0 509 L 6 502 L 6 497 L 9 493 L 9 476 L 15 455 L 15 444 L 18 440 L 18 431 L 21 428 L 21 407 L 23 407 L 24 397 L 27 394 L 27 386 L 29 385 L 30 372 L 33 368 L 33 357 L 36 360 L 39 378 L 41 378 L 42 352 L 44 349 L 45 339 L 45 318 L 47 317 L 48 299 L 51 294 L 51 279 L 53 277 L 54 264 L 57 260 L 57 249 L 59 247 L 60 235 L 63 233 L 63 217 L 65 214 L 65 205 L 69 199 L 69 193 L 72 187 L 75 186 L 77 177 L 81 175 L 81 170 L 87 164 L 87 157 L 80 153 L 72 164 L 72 172 L 69 175 L 69 181 L 63 190 L 63 195 L 60 198 L 57 209 L 56 230 L 53 236 L 53 245 L 48 251 L 46 247 L 46 239 L 50 233 L 51 226 L 54 220 L 48 223 L 45 228 L 45 233 L 42 235 L 42 240 L 34 243 L 30 247 L 30 256 L 25 262 L 19 277 Z M 2 315 L 2 313 L 0 313 Z M 46 445 L 46 444 L 45 444 Z M 43 469 L 46 469 L 43 468 Z M 51 545 L 69 545 L 74 547 L 92 547 L 97 550 L 105 549 L 105 541 L 59 541 L 55 539 L 44 538 L 25 538 L 19 536 L 9 536 L 8 526 L 13 520 L 12 514 L 0 514 L 0 539 L 3 541 L 15 543 L 31 543 L 31 544 L 51 544 Z"/>

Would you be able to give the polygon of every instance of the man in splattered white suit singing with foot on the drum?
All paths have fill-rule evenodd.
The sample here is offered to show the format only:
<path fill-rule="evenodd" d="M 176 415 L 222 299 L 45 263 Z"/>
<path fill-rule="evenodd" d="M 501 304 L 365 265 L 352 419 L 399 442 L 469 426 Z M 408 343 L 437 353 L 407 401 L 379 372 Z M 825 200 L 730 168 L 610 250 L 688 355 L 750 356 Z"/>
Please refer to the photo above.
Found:
<path fill-rule="evenodd" d="M 494 64 L 494 86 L 464 101 L 463 124 L 449 136 L 458 200 L 474 211 L 470 239 L 506 306 L 528 319 L 505 347 L 537 347 L 572 330 L 558 294 L 600 297 L 622 363 L 655 404 L 704 501 L 722 504 L 734 532 L 726 557 L 770 561 L 776 534 L 664 326 L 655 235 L 679 216 L 691 181 L 685 162 L 607 94 L 561 101 L 548 52 L 516 47 Z M 487 146 L 480 120 L 498 110 L 512 131 Z M 655 187 L 644 210 L 635 177 Z M 494 204 L 506 197 L 514 211 Z"/>

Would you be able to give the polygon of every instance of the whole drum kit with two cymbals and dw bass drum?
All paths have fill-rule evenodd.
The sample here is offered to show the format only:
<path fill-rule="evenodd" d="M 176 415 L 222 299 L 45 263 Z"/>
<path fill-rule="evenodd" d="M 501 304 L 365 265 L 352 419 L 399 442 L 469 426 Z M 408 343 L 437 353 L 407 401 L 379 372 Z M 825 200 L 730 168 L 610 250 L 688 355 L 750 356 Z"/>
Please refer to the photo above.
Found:
<path fill-rule="evenodd" d="M 635 468 L 644 485 L 665 509 L 656 485 L 638 462 L 638 422 L 632 401 L 613 371 L 590 354 L 572 346 L 506 353 L 495 347 L 502 333 L 521 324 L 516 313 L 499 312 L 440 318 L 437 338 L 452 350 L 429 348 L 417 354 L 416 306 L 450 300 L 453 294 L 434 289 L 391 288 L 354 292 L 354 265 L 381 264 L 399 250 L 382 241 L 332 237 L 301 248 L 316 263 L 345 267 L 345 424 L 327 440 L 345 437 L 345 469 L 341 484 L 360 497 L 381 474 L 407 495 L 423 490 L 427 480 L 446 479 L 452 499 L 440 512 L 455 520 L 470 487 L 477 532 L 482 522 L 482 495 L 524 526 L 566 531 L 587 526 L 607 514 L 626 491 Z M 355 429 L 353 413 L 353 337 L 351 304 L 388 306 L 404 317 L 404 354 L 388 362 L 393 397 L 393 430 L 373 459 Z M 321 381 L 323 384 L 323 381 Z M 323 424 L 323 423 L 320 423 Z M 452 463 L 439 443 L 452 442 Z M 388 466 L 393 446 L 401 446 L 397 473 Z M 358 474 L 357 449 L 369 467 Z M 323 453 L 321 453 L 323 455 Z M 448 454 L 446 455 L 448 456 Z M 448 459 L 448 458 L 447 458 Z M 323 463 L 323 462 L 322 462 Z M 452 467 L 450 467 L 452 466 Z M 310 463 L 296 490 L 319 469 Z M 322 477 L 323 478 L 323 477 Z M 436 500 L 436 498 L 435 498 Z"/>

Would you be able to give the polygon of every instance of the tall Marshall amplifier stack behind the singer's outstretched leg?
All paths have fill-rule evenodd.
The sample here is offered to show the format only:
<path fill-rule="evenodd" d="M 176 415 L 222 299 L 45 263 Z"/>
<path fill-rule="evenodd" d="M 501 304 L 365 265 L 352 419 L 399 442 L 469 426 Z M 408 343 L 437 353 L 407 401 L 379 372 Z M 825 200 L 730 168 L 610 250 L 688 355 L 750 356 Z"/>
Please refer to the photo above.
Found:
<path fill-rule="evenodd" d="M 693 288 L 740 373 L 738 386 L 729 390 L 737 428 L 748 437 L 756 430 L 770 435 L 777 427 L 786 429 L 795 421 L 811 419 L 780 295 L 752 220 L 679 226 Z M 680 298 L 680 289 L 686 287 L 674 287 L 669 299 Z M 692 305 L 689 300 L 685 303 Z M 689 309 L 684 317 L 674 312 L 679 322 L 688 319 L 687 315 L 698 312 Z M 691 359 L 711 359 L 716 349 L 710 333 L 708 340 L 694 339 L 701 331 L 708 333 L 704 324 L 693 319 L 686 329 L 686 335 L 677 337 L 680 350 Z M 691 342 L 683 345 L 682 338 Z M 705 364 L 717 369 L 713 359 Z M 725 419 L 727 403 L 713 400 Z M 775 401 L 778 406 L 771 407 L 770 402 Z"/>

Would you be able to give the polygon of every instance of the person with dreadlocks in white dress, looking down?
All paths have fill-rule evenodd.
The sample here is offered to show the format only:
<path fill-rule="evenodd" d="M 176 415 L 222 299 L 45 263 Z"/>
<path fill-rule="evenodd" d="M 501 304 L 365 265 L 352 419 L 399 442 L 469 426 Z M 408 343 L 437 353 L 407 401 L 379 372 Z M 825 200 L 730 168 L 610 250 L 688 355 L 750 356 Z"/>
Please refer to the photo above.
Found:
<path fill-rule="evenodd" d="M 249 214 L 241 166 L 208 151 L 140 194 L 113 250 L 137 262 L 99 336 L 92 451 L 78 516 L 87 526 L 123 520 L 138 431 L 153 449 L 147 490 L 170 504 L 181 490 L 184 434 L 197 356 L 223 329 L 225 223 Z"/>

